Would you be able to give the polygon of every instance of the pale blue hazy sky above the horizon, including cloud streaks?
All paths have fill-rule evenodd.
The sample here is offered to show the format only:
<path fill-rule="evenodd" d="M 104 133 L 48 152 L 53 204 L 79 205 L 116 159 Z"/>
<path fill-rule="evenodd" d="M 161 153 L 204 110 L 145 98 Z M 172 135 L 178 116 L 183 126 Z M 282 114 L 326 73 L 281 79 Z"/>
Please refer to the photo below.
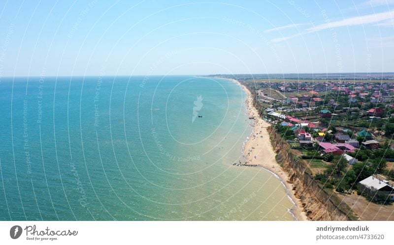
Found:
<path fill-rule="evenodd" d="M 394 0 L 1 0 L 0 77 L 394 72 Z"/>

